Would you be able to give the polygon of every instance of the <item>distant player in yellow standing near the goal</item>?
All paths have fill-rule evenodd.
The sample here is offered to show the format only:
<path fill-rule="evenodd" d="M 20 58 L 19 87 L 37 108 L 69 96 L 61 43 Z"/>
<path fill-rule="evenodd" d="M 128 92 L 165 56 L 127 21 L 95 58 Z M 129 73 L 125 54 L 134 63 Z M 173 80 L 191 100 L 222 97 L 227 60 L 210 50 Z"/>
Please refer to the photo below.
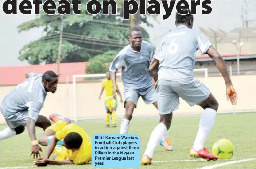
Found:
<path fill-rule="evenodd" d="M 117 85 L 117 81 L 116 81 Z M 101 82 L 101 92 L 99 99 L 101 99 L 101 96 L 103 94 L 103 91 L 105 89 L 106 91 L 106 98 L 105 98 L 105 109 L 107 111 L 106 113 L 106 127 L 110 127 L 109 120 L 110 115 L 112 117 L 112 127 L 116 127 L 116 108 L 118 106 L 116 95 L 115 98 L 112 95 L 112 80 L 110 79 L 110 72 L 108 71 L 106 73 L 106 78 Z M 123 99 L 120 92 L 117 92 L 117 94 L 120 97 L 120 102 L 123 103 Z"/>

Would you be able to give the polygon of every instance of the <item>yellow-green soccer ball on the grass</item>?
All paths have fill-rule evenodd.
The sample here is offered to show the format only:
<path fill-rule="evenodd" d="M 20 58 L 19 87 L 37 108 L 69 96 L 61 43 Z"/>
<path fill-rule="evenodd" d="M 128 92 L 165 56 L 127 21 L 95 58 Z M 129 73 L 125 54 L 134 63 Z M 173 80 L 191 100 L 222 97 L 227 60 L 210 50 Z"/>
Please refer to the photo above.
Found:
<path fill-rule="evenodd" d="M 219 159 L 230 159 L 234 153 L 233 144 L 227 139 L 219 139 L 212 146 L 212 154 Z"/>

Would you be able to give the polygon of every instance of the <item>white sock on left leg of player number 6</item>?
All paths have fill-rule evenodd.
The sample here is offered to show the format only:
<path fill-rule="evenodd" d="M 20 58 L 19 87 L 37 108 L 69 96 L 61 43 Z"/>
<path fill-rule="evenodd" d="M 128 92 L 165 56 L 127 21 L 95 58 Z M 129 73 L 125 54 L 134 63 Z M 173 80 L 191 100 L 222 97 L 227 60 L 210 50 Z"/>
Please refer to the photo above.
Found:
<path fill-rule="evenodd" d="M 143 155 L 148 155 L 149 158 L 153 158 L 155 148 L 159 144 L 159 141 L 163 138 L 165 132 L 167 132 L 166 126 L 163 123 L 159 123 L 152 131 L 147 143 L 147 148 Z"/>

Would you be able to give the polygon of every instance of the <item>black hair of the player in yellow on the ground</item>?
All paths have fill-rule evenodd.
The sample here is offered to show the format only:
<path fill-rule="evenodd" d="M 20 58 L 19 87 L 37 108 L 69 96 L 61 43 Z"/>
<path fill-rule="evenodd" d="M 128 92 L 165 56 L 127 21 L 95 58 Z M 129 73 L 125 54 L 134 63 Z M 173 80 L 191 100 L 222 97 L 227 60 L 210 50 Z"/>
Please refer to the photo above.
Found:
<path fill-rule="evenodd" d="M 63 141 L 67 149 L 78 149 L 83 142 L 83 138 L 76 132 L 70 132 L 65 136 Z"/>

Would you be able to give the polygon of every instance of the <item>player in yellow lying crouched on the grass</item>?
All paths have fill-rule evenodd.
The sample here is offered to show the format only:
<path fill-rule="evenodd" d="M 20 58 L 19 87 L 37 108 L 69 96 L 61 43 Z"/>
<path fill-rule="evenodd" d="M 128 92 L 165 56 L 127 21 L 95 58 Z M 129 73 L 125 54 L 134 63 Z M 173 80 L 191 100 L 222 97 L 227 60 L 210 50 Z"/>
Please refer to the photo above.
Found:
<path fill-rule="evenodd" d="M 49 117 L 54 124 L 39 138 L 39 143 L 47 146 L 45 156 L 35 161 L 36 166 L 88 164 L 92 159 L 91 138 L 83 128 L 70 124 L 71 120 L 58 114 Z M 54 159 L 49 159 L 54 153 Z"/>

